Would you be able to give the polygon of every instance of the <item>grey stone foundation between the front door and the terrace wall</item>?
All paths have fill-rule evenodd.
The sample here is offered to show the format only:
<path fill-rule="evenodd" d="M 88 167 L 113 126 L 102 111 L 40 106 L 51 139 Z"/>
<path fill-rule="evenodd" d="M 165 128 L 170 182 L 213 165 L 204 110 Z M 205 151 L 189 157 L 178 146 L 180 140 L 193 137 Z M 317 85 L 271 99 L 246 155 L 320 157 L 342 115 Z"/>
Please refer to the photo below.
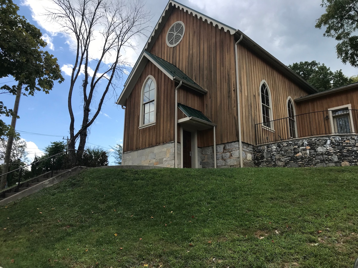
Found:
<path fill-rule="evenodd" d="M 242 157 L 244 167 L 253 167 L 253 147 L 250 144 L 242 143 Z M 214 167 L 214 147 L 202 148 L 203 168 Z M 240 167 L 239 142 L 229 142 L 216 145 L 216 167 L 230 168 Z"/>

